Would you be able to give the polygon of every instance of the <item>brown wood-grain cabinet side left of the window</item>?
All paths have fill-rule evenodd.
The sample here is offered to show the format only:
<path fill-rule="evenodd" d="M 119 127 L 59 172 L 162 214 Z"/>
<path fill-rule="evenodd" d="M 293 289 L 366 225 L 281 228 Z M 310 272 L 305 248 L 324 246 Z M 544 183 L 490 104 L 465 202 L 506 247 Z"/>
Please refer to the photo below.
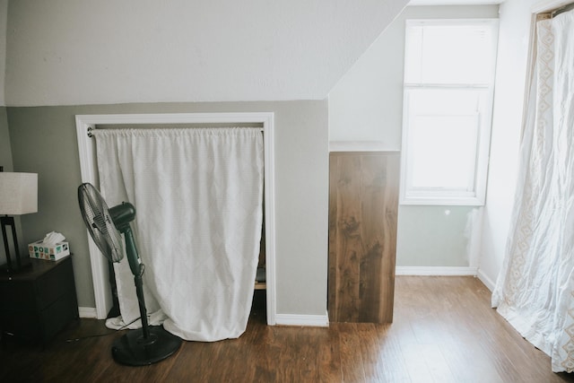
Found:
<path fill-rule="evenodd" d="M 331 322 L 393 321 L 400 152 L 329 156 Z"/>

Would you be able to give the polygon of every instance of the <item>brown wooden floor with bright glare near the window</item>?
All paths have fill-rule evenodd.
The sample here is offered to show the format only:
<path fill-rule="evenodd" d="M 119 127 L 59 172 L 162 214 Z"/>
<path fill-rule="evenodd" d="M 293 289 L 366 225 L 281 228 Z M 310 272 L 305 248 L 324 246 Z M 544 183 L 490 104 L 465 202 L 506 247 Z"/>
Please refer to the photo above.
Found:
<path fill-rule="evenodd" d="M 184 342 L 145 367 L 114 362 L 116 336 L 81 319 L 48 344 L 8 342 L 0 381 L 30 382 L 561 382 L 550 358 L 490 308 L 473 277 L 396 277 L 391 325 L 329 328 L 265 326 L 254 310 L 244 335 L 212 344 Z M 86 335 L 109 334 L 66 342 Z"/>

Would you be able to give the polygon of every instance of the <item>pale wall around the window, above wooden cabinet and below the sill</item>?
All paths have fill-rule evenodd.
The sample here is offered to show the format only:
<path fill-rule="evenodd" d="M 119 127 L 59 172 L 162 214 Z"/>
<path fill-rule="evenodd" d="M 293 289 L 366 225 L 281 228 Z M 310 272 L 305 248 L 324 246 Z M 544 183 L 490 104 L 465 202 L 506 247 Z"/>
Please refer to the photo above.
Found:
<path fill-rule="evenodd" d="M 498 6 L 408 6 L 329 93 L 329 140 L 401 149 L 406 19 L 497 18 Z M 399 207 L 396 265 L 476 267 L 472 206 Z M 467 230 L 468 226 L 468 230 Z M 470 272 L 467 271 L 467 272 Z"/>

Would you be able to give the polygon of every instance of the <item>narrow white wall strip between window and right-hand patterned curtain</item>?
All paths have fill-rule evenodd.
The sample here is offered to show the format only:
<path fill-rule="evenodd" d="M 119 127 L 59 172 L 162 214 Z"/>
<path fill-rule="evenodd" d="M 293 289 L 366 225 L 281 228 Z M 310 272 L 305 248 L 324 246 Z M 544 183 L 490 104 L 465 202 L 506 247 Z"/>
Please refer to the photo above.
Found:
<path fill-rule="evenodd" d="M 532 9 L 540 0 L 500 5 L 500 41 L 492 120 L 491 164 L 483 217 L 480 278 L 493 288 L 506 252 L 514 204 L 525 101 Z"/>

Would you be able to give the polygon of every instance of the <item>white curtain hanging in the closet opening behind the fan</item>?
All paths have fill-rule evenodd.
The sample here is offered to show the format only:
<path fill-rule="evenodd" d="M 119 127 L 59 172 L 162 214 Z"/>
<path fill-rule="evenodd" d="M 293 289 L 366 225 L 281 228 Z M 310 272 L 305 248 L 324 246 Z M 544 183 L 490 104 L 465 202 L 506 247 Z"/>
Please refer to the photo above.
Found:
<path fill-rule="evenodd" d="M 135 205 L 150 324 L 186 340 L 247 326 L 263 221 L 258 128 L 96 129 L 100 192 Z M 139 318 L 133 275 L 115 264 L 122 326 Z M 135 322 L 141 326 L 141 322 Z"/>

